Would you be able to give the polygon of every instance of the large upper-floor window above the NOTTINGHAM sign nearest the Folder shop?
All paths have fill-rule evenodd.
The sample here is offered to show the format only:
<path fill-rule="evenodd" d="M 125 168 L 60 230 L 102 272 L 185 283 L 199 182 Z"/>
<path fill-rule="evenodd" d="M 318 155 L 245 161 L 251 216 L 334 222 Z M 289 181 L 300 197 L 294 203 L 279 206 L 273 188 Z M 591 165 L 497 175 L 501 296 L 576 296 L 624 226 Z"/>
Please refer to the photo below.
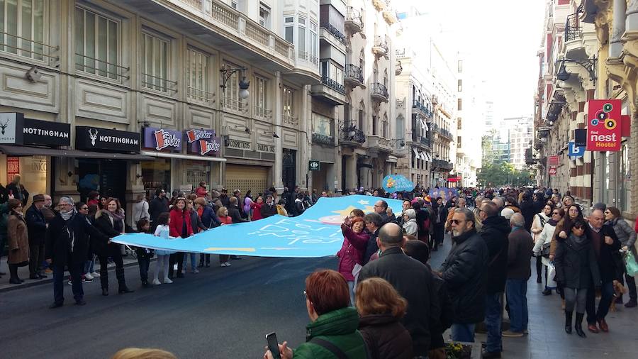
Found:
<path fill-rule="evenodd" d="M 75 69 L 118 79 L 119 23 L 97 13 L 75 8 Z"/>

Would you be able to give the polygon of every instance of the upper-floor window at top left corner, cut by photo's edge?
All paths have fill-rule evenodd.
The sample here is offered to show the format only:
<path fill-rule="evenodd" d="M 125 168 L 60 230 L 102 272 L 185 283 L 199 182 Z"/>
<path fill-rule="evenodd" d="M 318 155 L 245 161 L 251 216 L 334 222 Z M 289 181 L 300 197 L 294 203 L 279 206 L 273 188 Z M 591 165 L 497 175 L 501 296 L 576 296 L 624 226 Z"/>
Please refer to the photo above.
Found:
<path fill-rule="evenodd" d="M 44 60 L 44 0 L 0 1 L 0 51 Z"/>

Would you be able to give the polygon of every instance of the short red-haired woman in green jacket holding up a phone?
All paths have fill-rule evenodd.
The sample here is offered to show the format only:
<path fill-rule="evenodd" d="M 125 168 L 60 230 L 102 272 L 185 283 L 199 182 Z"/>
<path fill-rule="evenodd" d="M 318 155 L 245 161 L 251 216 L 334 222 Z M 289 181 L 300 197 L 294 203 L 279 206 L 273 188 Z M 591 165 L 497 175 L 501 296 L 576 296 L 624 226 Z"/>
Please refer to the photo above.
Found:
<path fill-rule="evenodd" d="M 306 343 L 296 349 L 279 344 L 282 359 L 366 358 L 366 343 L 357 330 L 359 314 L 350 305 L 345 278 L 335 270 L 317 270 L 306 278 Z M 264 359 L 272 359 L 268 350 Z"/>

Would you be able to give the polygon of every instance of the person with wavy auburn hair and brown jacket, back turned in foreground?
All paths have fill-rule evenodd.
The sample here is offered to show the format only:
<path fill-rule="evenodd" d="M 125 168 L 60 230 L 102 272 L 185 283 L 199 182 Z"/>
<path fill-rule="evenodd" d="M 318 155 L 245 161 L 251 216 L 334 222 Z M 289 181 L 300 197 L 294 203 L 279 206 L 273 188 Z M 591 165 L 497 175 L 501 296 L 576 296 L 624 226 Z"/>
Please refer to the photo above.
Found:
<path fill-rule="evenodd" d="M 357 285 L 359 333 L 368 358 L 413 359 L 410 332 L 401 324 L 408 301 L 388 281 L 368 278 Z"/>

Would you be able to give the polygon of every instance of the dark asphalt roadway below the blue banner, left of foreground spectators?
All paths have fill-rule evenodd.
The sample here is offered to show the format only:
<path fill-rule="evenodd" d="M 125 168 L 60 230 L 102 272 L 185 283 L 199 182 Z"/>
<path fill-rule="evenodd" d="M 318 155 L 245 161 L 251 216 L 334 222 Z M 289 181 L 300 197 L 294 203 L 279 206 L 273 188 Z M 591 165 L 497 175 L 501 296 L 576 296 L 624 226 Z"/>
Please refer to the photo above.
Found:
<path fill-rule="evenodd" d="M 213 263 L 216 256 L 213 255 Z M 101 296 L 99 281 L 84 285 L 86 306 L 48 309 L 52 285 L 0 295 L 0 358 L 110 358 L 130 346 L 164 348 L 179 358 L 262 358 L 267 333 L 296 347 L 305 341 L 305 278 L 335 268 L 335 258 L 233 260 L 171 285 L 140 287 L 126 270 L 132 294 Z M 152 264 L 153 265 L 153 264 Z M 152 266 L 151 265 L 151 266 Z"/>

